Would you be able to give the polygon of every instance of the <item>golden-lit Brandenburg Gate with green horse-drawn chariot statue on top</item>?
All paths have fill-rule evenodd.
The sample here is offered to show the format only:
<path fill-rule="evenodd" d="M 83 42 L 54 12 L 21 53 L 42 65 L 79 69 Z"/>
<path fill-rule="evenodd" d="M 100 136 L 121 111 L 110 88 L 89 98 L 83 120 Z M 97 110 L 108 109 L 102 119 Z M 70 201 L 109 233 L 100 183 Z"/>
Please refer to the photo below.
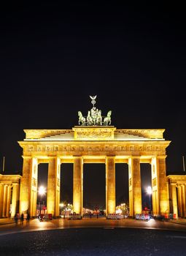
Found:
<path fill-rule="evenodd" d="M 23 148 L 23 177 L 20 182 L 20 212 L 36 216 L 38 165 L 48 163 L 47 213 L 59 215 L 61 165 L 73 163 L 73 207 L 82 214 L 83 164 L 104 163 L 106 177 L 106 214 L 115 213 L 115 164 L 128 164 L 130 215 L 142 213 L 140 163 L 152 170 L 153 214 L 169 212 L 166 178 L 164 129 L 117 129 L 111 126 L 111 114 L 101 115 L 93 108 L 87 116 L 79 111 L 79 126 L 72 129 L 25 129 L 26 138 L 18 143 Z M 97 177 L 98 178 L 98 177 Z"/>

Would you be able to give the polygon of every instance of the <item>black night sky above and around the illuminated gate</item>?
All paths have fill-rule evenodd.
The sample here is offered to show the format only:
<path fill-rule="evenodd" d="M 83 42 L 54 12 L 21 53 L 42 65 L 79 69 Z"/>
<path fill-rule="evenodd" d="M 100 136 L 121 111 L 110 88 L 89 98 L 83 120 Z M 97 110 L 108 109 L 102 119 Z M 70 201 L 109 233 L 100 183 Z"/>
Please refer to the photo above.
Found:
<path fill-rule="evenodd" d="M 21 171 L 23 129 L 71 129 L 77 111 L 112 110 L 117 128 L 165 128 L 167 171 L 186 156 L 181 5 L 1 7 L 0 164 Z"/>

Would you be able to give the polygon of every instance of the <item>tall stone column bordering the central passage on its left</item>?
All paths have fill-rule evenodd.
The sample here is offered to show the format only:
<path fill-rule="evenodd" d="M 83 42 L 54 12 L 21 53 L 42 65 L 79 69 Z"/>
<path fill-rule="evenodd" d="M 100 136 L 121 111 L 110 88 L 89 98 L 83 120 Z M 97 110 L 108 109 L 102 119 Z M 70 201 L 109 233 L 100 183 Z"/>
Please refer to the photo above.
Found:
<path fill-rule="evenodd" d="M 82 214 L 82 175 L 82 157 L 74 157 L 73 207 L 77 214 Z"/>

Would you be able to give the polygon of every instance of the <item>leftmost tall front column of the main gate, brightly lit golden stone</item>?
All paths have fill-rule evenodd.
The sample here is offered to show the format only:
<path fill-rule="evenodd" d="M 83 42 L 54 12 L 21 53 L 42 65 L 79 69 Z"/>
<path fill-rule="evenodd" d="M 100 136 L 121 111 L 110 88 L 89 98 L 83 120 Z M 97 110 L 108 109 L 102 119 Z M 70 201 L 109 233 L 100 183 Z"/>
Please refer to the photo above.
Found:
<path fill-rule="evenodd" d="M 20 179 L 20 213 L 29 211 L 31 198 L 31 157 L 23 157 L 23 177 Z"/>

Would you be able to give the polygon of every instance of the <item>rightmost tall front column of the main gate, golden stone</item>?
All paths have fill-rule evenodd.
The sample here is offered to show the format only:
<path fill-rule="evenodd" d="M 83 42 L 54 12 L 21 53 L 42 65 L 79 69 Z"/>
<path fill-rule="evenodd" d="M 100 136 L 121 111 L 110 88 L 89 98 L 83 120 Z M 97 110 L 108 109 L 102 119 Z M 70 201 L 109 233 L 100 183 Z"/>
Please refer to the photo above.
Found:
<path fill-rule="evenodd" d="M 158 157 L 160 214 L 169 213 L 168 189 L 166 182 L 166 156 Z"/>

